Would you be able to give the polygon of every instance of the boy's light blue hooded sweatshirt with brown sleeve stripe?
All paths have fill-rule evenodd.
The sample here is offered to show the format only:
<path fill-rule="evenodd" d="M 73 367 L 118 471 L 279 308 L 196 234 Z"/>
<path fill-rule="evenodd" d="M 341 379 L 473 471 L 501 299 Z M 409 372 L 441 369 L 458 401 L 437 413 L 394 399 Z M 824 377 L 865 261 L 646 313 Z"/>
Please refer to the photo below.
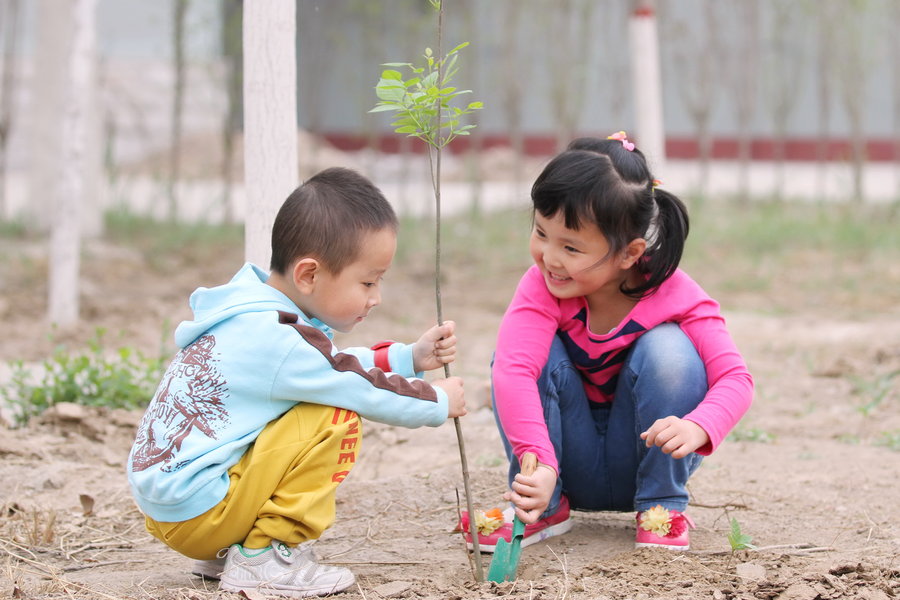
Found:
<path fill-rule="evenodd" d="M 339 351 L 331 329 L 303 314 L 246 264 L 230 282 L 191 294 L 194 320 L 175 330 L 172 360 L 138 428 L 128 481 L 156 521 L 203 514 L 228 491 L 228 469 L 269 421 L 298 402 L 352 410 L 373 421 L 419 427 L 446 419 L 446 393 L 418 379 L 412 346 Z"/>

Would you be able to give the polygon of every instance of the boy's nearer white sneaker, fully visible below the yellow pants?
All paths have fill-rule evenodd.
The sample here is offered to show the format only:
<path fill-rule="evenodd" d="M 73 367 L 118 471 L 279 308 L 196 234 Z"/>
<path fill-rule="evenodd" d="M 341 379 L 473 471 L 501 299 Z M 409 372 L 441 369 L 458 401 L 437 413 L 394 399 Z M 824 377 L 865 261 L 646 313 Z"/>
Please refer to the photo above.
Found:
<path fill-rule="evenodd" d="M 349 569 L 316 562 L 313 542 L 290 548 L 277 540 L 261 550 L 234 544 L 225 557 L 219 588 L 230 592 L 260 590 L 277 596 L 327 596 L 356 583 Z"/>

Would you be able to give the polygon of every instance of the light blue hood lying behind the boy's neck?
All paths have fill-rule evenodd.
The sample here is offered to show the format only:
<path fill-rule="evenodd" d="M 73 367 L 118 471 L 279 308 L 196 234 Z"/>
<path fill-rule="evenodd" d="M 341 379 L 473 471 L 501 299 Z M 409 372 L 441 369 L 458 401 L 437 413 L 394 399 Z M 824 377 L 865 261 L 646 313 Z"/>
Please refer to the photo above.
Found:
<path fill-rule="evenodd" d="M 247 263 L 231 281 L 213 288 L 197 288 L 191 294 L 192 321 L 182 321 L 175 329 L 175 343 L 184 348 L 222 321 L 243 313 L 283 310 L 300 315 L 318 329 L 332 337 L 331 329 L 318 319 L 303 314 L 290 298 L 266 285 L 269 274 L 258 266 Z"/>

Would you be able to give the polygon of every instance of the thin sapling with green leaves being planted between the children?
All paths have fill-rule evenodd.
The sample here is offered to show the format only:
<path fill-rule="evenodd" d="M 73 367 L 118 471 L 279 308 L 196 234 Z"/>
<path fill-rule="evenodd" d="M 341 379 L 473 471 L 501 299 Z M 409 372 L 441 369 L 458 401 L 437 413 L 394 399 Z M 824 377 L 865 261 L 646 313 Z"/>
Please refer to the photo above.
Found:
<path fill-rule="evenodd" d="M 474 125 L 462 125 L 461 117 L 483 108 L 481 102 L 469 102 L 465 107 L 451 105 L 451 102 L 469 90 L 458 90 L 450 85 L 457 66 L 458 52 L 468 46 L 468 42 L 459 44 L 446 55 L 443 53 L 444 6 L 442 0 L 428 0 L 438 13 L 438 52 L 435 55 L 431 48 L 425 49 L 425 66 L 416 67 L 411 63 L 387 63 L 386 67 L 407 69 L 412 78 L 404 79 L 403 74 L 390 68 L 382 71 L 381 78 L 375 86 L 379 102 L 369 112 L 397 113 L 391 126 L 396 133 L 415 137 L 427 144 L 428 163 L 431 167 L 431 183 L 434 190 L 435 204 L 435 253 L 434 253 L 434 293 L 437 305 L 437 322 L 443 324 L 443 303 L 441 301 L 441 156 L 443 148 L 457 136 L 469 135 Z M 450 365 L 444 365 L 444 375 L 450 377 Z M 484 567 L 481 564 L 481 550 L 478 545 L 478 528 L 475 524 L 475 511 L 472 505 L 472 493 L 469 489 L 469 466 L 466 458 L 466 446 L 462 434 L 459 417 L 453 418 L 456 427 L 456 439 L 459 444 L 459 458 L 462 466 L 463 485 L 465 487 L 466 508 L 469 511 L 469 533 L 475 551 L 475 580 L 484 580 Z"/>

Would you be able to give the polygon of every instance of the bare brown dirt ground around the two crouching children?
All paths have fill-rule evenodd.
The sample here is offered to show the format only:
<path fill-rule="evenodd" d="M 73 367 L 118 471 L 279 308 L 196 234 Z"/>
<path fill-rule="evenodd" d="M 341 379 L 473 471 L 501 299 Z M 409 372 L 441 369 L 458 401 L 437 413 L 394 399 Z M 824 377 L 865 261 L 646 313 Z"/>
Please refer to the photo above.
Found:
<path fill-rule="evenodd" d="M 39 360 L 52 348 L 43 320 L 46 256 L 36 243 L 4 244 L 0 360 Z M 94 242 L 83 263 L 87 324 L 56 341 L 77 347 L 102 325 L 121 332 L 108 337 L 111 345 L 152 352 L 163 323 L 170 335 L 188 316 L 189 293 L 227 280 L 240 252 L 160 264 Z M 493 272 L 467 263 L 446 272 L 445 316 L 459 323 L 454 373 L 466 378 L 472 408 L 461 425 L 481 508 L 502 502 L 505 461 L 487 405 L 488 364 L 497 322 L 526 265 Z M 476 583 L 453 533 L 465 501 L 452 423 L 419 430 L 366 423 L 360 462 L 338 493 L 337 523 L 317 544 L 321 557 L 357 575 L 358 585 L 340 597 L 900 597 L 900 442 L 887 437 L 900 432 L 898 381 L 889 377 L 900 369 L 900 277 L 895 265 L 872 269 L 893 278 L 893 296 L 856 293 L 842 304 L 835 299 L 851 292 L 833 290 L 821 301 L 781 303 L 791 310 L 766 310 L 764 295 L 718 289 L 715 267 L 693 273 L 726 307 L 757 393 L 738 434 L 691 481 L 691 551 L 636 551 L 632 514 L 574 513 L 571 533 L 524 550 L 517 581 Z M 339 343 L 413 339 L 429 326 L 427 271 L 424 263 L 395 269 L 384 305 Z M 791 293 L 794 275 L 776 274 L 781 281 L 772 289 Z M 80 409 L 24 429 L 0 425 L 0 598 L 236 597 L 192 577 L 190 560 L 144 532 L 123 467 L 139 417 Z M 731 552 L 732 517 L 756 550 Z"/>

